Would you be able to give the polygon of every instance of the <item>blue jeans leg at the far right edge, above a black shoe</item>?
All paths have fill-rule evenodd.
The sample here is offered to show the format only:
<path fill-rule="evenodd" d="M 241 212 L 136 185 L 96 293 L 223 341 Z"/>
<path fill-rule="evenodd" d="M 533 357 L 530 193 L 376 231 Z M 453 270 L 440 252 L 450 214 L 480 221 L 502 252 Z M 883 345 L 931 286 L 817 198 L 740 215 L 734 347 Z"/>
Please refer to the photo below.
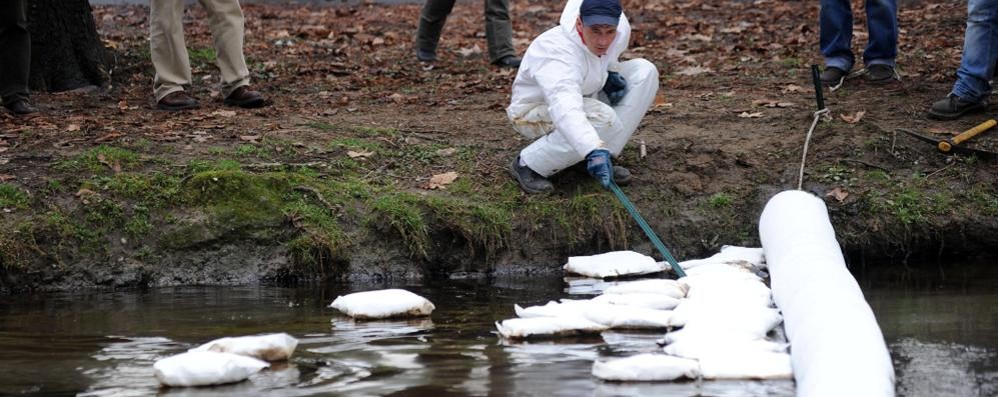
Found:
<path fill-rule="evenodd" d="M 963 38 L 963 59 L 956 70 L 953 94 L 973 102 L 991 95 L 991 80 L 998 61 L 998 0 L 967 2 L 967 34 Z"/>

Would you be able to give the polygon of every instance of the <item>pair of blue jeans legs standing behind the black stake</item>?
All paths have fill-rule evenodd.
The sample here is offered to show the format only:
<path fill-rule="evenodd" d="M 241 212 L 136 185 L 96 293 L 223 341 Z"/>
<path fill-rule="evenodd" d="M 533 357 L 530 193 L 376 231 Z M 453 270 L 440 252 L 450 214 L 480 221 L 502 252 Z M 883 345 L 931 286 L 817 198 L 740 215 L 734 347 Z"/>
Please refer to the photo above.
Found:
<path fill-rule="evenodd" d="M 897 57 L 897 0 L 866 0 L 866 25 L 870 32 L 863 62 L 894 66 Z M 825 66 L 852 70 L 852 5 L 849 0 L 821 0 L 821 55 Z"/>

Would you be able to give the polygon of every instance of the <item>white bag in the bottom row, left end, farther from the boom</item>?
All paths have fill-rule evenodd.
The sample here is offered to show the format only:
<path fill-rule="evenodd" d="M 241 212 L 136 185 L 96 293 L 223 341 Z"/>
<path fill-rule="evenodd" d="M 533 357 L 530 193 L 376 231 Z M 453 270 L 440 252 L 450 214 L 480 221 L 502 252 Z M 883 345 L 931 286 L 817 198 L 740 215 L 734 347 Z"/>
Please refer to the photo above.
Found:
<path fill-rule="evenodd" d="M 593 376 L 607 381 L 670 381 L 696 379 L 700 366 L 696 360 L 664 354 L 638 354 L 631 357 L 596 361 Z"/>

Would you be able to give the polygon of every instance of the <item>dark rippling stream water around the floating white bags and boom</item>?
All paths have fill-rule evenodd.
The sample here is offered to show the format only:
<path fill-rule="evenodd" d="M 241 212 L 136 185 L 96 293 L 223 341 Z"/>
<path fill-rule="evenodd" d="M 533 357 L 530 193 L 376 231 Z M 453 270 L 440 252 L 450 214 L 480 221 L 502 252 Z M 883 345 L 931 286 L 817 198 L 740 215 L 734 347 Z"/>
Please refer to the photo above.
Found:
<path fill-rule="evenodd" d="M 386 287 L 429 298 L 437 306 L 432 320 L 353 322 L 326 307 L 339 294 Z M 618 384 L 590 375 L 597 358 L 656 351 L 657 332 L 530 343 L 503 343 L 493 334 L 494 321 L 513 316 L 513 303 L 570 296 L 565 287 L 542 278 L 5 297 L 0 394 L 793 395 L 791 381 Z M 998 289 L 877 287 L 867 295 L 902 395 L 998 394 Z M 157 359 L 214 338 L 265 332 L 301 342 L 290 362 L 246 382 L 160 389 L 152 375 Z"/>

